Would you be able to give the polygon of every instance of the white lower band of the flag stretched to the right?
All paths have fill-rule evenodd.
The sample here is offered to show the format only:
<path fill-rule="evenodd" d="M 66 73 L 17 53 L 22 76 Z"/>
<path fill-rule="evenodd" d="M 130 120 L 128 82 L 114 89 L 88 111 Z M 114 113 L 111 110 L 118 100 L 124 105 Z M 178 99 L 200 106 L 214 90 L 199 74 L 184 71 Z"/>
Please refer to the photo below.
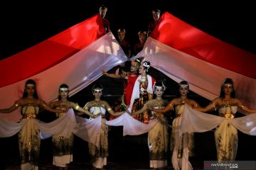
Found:
<path fill-rule="evenodd" d="M 229 77 L 235 83 L 236 97 L 249 108 L 256 108 L 256 79 L 199 60 L 150 37 L 134 58 L 141 56 L 146 56 L 151 67 L 174 81 L 188 81 L 191 91 L 209 100 L 219 96 L 223 79 Z"/>

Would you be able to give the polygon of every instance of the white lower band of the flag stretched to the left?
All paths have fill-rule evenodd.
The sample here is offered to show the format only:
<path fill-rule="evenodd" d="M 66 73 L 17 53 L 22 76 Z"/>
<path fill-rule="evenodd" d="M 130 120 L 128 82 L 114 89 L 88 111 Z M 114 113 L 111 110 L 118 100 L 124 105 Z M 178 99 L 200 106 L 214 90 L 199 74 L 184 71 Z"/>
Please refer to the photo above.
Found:
<path fill-rule="evenodd" d="M 60 84 L 68 84 L 70 96 L 73 96 L 101 77 L 103 66 L 109 70 L 125 61 L 127 57 L 122 47 L 110 32 L 67 60 L 28 79 L 36 80 L 38 96 L 50 102 L 58 98 Z M 22 97 L 26 80 L 0 88 L 0 108 L 9 108 Z M 21 114 L 18 110 L 9 114 L 0 113 L 0 118 L 16 122 Z"/>

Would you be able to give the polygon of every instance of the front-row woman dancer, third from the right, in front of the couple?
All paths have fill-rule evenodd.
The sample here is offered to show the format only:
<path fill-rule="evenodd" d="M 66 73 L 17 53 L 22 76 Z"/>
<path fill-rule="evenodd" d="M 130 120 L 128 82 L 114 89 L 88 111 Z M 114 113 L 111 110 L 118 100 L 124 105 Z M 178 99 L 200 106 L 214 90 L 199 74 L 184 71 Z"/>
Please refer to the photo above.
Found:
<path fill-rule="evenodd" d="M 162 82 L 154 84 L 154 93 L 156 98 L 147 101 L 143 108 L 139 111 L 132 113 L 137 115 L 144 113 L 149 107 L 151 108 L 164 108 L 168 101 L 162 98 L 166 87 Z M 152 169 L 164 169 L 167 167 L 167 148 L 168 148 L 168 121 L 163 113 L 152 111 L 151 119 L 159 120 L 154 127 L 148 132 L 148 146 L 149 146 L 149 164 Z"/>

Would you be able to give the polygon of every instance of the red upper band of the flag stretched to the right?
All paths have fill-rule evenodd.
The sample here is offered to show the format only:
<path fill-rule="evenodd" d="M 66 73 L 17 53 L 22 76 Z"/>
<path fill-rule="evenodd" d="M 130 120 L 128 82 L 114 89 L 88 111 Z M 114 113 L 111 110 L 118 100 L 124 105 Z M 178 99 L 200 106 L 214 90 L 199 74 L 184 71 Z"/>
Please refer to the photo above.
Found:
<path fill-rule="evenodd" d="M 151 38 L 177 50 L 256 79 L 256 55 L 204 33 L 168 12 L 163 13 Z"/>

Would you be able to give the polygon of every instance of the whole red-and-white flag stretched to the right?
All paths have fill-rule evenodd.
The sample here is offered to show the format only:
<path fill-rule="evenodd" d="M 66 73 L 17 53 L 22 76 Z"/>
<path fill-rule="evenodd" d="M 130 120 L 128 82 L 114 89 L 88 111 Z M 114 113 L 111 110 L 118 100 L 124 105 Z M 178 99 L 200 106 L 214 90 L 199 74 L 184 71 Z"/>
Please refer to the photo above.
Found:
<path fill-rule="evenodd" d="M 151 66 L 176 82 L 186 80 L 190 89 L 213 100 L 223 79 L 235 81 L 236 96 L 256 108 L 256 55 L 228 45 L 164 13 L 136 57 L 147 56 Z"/>

